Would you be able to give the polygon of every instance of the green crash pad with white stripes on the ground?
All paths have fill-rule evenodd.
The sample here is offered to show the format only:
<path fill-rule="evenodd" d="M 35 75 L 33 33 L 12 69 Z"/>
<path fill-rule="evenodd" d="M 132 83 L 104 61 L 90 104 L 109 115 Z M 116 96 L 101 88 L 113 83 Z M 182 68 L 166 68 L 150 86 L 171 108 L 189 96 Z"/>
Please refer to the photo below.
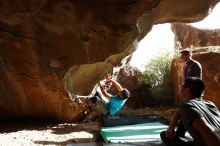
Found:
<path fill-rule="evenodd" d="M 167 129 L 160 122 L 102 127 L 101 135 L 105 143 L 136 143 L 160 140 L 160 132 Z"/>

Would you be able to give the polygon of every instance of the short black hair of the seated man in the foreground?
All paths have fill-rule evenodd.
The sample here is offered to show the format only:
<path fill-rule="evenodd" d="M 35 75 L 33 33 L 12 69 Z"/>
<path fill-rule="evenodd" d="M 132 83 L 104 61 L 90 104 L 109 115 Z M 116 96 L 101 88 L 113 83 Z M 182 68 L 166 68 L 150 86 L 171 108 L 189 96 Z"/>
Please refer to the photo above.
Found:
<path fill-rule="evenodd" d="M 192 98 L 202 98 L 205 91 L 204 82 L 198 77 L 189 77 L 184 80 L 184 87 L 188 87 L 192 93 Z"/>

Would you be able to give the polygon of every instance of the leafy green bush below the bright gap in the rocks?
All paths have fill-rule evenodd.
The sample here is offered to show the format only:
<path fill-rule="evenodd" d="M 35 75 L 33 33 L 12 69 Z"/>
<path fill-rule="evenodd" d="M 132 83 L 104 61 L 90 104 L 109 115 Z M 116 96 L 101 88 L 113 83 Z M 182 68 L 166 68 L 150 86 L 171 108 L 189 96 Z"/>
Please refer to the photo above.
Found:
<path fill-rule="evenodd" d="M 142 84 L 149 86 L 155 98 L 171 98 L 171 61 L 172 53 L 163 52 L 152 59 L 146 66 L 141 79 Z"/>

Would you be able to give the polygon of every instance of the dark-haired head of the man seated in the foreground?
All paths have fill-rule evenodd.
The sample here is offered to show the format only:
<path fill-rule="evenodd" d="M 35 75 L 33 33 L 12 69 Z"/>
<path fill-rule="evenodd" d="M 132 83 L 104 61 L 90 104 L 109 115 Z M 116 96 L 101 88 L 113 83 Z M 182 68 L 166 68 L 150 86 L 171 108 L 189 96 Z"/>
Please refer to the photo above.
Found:
<path fill-rule="evenodd" d="M 183 100 L 202 98 L 204 91 L 205 84 L 198 77 L 186 78 L 181 85 L 181 95 Z"/>

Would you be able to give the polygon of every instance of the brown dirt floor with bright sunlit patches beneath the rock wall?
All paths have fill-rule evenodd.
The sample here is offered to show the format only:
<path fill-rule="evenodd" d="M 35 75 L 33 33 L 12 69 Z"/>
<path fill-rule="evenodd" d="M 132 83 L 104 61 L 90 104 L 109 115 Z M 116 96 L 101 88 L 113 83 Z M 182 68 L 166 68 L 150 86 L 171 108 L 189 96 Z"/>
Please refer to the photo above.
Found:
<path fill-rule="evenodd" d="M 170 118 L 170 107 L 144 108 L 136 114 L 154 114 Z M 67 145 L 76 142 L 102 141 L 99 133 L 101 123 L 87 119 L 82 123 L 1 123 L 1 146 Z"/>

